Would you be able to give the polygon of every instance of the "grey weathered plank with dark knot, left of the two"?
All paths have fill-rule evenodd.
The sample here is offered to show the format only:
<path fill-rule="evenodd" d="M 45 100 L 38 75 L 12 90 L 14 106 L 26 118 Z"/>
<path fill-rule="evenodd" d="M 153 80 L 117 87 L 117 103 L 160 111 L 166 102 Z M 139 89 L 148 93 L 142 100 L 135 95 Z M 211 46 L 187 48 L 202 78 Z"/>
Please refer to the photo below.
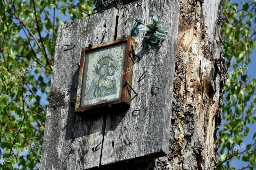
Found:
<path fill-rule="evenodd" d="M 114 40 L 117 14 L 117 9 L 110 9 L 58 29 L 40 169 L 78 170 L 100 166 L 105 123 L 103 115 L 81 118 L 74 114 L 76 64 L 81 49 L 89 43 Z"/>

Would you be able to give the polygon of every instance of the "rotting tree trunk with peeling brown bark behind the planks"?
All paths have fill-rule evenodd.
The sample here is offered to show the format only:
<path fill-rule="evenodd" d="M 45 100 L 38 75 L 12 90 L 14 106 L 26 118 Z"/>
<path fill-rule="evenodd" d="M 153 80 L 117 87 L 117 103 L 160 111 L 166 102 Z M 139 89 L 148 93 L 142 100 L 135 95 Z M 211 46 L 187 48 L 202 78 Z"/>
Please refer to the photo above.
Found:
<path fill-rule="evenodd" d="M 217 39 L 221 6 L 222 1 L 180 1 L 170 152 L 156 160 L 155 169 L 215 169 L 218 164 L 225 85 L 220 77 L 227 71 L 224 50 Z M 207 14 L 209 11 L 213 13 Z M 181 146 L 180 134 L 184 135 Z"/>

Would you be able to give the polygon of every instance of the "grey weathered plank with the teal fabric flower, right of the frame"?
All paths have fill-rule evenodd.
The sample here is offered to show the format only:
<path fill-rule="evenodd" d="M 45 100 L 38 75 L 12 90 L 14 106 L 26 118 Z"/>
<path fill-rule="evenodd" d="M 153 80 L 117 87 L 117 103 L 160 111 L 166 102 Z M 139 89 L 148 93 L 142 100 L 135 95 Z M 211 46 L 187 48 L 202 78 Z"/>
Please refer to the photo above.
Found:
<path fill-rule="evenodd" d="M 102 165 L 135 158 L 145 161 L 169 151 L 179 1 L 144 0 L 142 4 L 138 3 L 119 9 L 117 39 L 131 35 L 134 18 L 140 18 L 147 24 L 152 15 L 159 18 L 162 28 L 169 33 L 161 46 L 150 50 L 144 47 L 145 32 L 140 31 L 134 37 L 136 53 L 141 57 L 134 63 L 132 80 L 132 87 L 138 96 L 132 94 L 129 110 L 107 114 Z M 144 78 L 138 82 L 146 70 Z M 152 89 L 152 86 L 159 89 Z M 140 111 L 132 114 L 138 109 Z"/>

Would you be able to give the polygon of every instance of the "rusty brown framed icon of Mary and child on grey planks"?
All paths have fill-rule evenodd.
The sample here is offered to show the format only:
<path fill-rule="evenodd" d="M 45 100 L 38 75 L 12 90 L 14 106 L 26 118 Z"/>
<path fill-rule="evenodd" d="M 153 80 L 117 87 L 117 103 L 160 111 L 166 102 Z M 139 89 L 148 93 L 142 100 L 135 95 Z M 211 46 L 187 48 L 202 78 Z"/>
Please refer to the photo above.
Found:
<path fill-rule="evenodd" d="M 82 48 L 77 114 L 130 106 L 134 51 L 132 37 Z"/>

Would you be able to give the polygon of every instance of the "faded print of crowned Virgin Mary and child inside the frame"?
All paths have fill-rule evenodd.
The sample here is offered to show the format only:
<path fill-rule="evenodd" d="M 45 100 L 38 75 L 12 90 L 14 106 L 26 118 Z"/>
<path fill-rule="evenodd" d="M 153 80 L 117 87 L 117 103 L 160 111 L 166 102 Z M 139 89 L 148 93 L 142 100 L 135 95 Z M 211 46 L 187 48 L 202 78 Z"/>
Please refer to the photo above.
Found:
<path fill-rule="evenodd" d="M 80 107 L 122 97 L 125 49 L 126 42 L 86 52 Z"/>

